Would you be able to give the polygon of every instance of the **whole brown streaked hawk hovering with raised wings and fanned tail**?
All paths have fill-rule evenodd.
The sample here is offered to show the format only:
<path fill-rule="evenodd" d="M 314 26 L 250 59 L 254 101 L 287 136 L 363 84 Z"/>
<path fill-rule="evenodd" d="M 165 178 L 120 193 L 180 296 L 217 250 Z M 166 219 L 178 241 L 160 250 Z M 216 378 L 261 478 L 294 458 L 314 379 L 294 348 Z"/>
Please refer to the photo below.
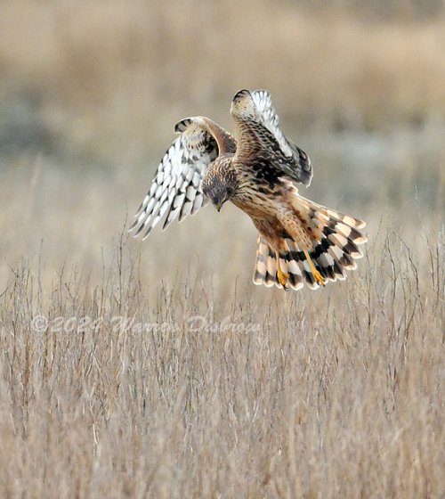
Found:
<path fill-rule="evenodd" d="M 271 94 L 240 90 L 231 102 L 236 138 L 202 116 L 182 119 L 178 138 L 161 160 L 130 230 L 135 236 L 165 217 L 164 228 L 206 205 L 226 201 L 242 209 L 258 230 L 254 282 L 298 290 L 345 278 L 362 256 L 365 223 L 298 193 L 309 185 L 309 156 L 279 127 Z"/>

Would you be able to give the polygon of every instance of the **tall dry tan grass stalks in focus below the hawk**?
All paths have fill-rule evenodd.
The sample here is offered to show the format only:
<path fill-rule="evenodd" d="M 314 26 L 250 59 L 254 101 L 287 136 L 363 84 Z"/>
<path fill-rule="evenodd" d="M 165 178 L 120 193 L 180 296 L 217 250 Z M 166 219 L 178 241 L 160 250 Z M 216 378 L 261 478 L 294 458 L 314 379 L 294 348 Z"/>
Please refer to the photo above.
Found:
<path fill-rule="evenodd" d="M 11 268 L 0 495 L 440 498 L 443 237 L 381 230 L 318 293 Z"/>

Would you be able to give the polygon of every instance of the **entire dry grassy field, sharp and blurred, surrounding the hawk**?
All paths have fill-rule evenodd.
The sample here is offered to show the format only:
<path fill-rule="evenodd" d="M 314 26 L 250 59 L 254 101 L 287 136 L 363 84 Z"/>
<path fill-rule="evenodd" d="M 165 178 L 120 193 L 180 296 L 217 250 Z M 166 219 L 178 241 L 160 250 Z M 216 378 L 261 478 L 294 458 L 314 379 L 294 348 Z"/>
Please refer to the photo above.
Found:
<path fill-rule="evenodd" d="M 443 497 L 445 16 L 327 4 L 0 7 L 0 497 Z M 230 206 L 128 235 L 241 87 L 367 220 L 346 281 L 255 287 Z"/>

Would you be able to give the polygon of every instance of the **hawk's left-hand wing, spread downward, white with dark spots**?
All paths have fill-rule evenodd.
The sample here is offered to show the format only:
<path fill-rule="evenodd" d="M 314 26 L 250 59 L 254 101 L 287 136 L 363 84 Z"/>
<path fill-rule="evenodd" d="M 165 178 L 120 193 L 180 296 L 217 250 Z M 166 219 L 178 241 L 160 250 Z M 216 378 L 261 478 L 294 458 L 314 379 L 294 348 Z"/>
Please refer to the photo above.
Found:
<path fill-rule="evenodd" d="M 165 229 L 175 218 L 179 221 L 206 205 L 202 179 L 207 166 L 223 150 L 236 147 L 235 140 L 222 127 L 204 117 L 182 119 L 174 127 L 181 134 L 162 158 L 150 190 L 130 227 L 134 236 L 144 232 L 145 239 L 166 215 Z"/>

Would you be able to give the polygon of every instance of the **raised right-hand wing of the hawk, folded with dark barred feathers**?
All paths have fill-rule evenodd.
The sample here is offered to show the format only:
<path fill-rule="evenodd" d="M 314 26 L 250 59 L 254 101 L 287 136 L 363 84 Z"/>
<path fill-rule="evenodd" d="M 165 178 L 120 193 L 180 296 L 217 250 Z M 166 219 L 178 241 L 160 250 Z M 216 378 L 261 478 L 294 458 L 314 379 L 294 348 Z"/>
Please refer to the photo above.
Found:
<path fill-rule="evenodd" d="M 239 151 L 266 151 L 274 165 L 295 182 L 310 184 L 309 156 L 287 139 L 279 126 L 271 94 L 266 90 L 240 90 L 232 101 L 231 114 L 239 125 Z"/>

